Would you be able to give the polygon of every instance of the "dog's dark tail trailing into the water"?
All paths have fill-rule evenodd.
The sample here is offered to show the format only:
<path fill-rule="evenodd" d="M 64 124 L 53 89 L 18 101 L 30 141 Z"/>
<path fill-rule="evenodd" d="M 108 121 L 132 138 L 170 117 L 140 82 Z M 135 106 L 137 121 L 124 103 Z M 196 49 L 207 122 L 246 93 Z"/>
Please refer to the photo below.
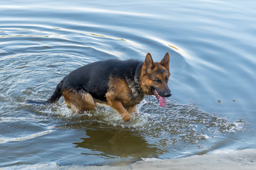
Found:
<path fill-rule="evenodd" d="M 26 104 L 44 104 L 44 105 L 56 103 L 60 99 L 60 97 L 62 96 L 62 94 L 61 94 L 62 84 L 63 84 L 63 81 L 61 81 L 57 85 L 55 91 L 53 92 L 52 96 L 48 100 L 46 100 L 46 101 L 26 100 L 25 103 Z"/>

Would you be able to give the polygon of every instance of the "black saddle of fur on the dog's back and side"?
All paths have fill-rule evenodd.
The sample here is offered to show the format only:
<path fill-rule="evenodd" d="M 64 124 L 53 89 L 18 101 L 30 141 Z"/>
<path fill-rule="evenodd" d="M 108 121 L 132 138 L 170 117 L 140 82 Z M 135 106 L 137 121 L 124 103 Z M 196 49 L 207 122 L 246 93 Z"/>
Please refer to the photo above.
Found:
<path fill-rule="evenodd" d="M 109 79 L 123 78 L 133 80 L 135 69 L 143 62 L 137 60 L 108 59 L 89 63 L 69 73 L 63 79 L 61 91 L 64 90 L 85 90 L 94 98 L 106 101 Z"/>

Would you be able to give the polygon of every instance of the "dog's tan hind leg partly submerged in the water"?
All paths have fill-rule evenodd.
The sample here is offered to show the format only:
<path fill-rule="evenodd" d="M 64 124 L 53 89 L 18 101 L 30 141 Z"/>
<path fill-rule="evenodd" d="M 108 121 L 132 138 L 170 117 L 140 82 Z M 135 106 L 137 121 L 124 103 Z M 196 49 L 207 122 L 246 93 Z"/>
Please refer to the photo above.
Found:
<path fill-rule="evenodd" d="M 96 107 L 93 96 L 84 90 L 64 90 L 65 103 L 75 112 L 90 111 Z"/>

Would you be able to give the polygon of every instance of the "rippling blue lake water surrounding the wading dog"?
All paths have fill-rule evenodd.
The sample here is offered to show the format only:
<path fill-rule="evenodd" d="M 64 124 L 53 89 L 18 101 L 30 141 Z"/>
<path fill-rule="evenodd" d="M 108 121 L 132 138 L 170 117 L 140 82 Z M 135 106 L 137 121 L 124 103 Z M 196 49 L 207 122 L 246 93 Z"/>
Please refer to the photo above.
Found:
<path fill-rule="evenodd" d="M 0 167 L 103 165 L 256 148 L 256 1 L 2 1 Z M 47 100 L 70 71 L 110 58 L 160 61 L 172 96 L 123 122 Z M 19 166 L 19 167 L 17 167 Z M 7 169 L 8 169 L 7 168 Z"/>

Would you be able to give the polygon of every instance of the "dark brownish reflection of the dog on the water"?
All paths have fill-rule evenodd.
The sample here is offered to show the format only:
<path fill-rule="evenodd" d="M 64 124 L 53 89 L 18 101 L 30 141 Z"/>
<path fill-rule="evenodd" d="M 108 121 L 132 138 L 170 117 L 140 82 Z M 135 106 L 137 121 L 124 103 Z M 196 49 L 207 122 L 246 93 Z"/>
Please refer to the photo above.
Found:
<path fill-rule="evenodd" d="M 73 143 L 75 147 L 88 148 L 92 151 L 100 151 L 108 157 L 119 156 L 120 158 L 130 158 L 131 161 L 139 158 L 154 158 L 161 154 L 155 146 L 148 145 L 141 136 L 130 131 L 110 131 L 110 130 L 86 130 L 88 138 L 81 138 L 82 142 Z M 86 153 L 81 153 L 85 154 Z"/>

